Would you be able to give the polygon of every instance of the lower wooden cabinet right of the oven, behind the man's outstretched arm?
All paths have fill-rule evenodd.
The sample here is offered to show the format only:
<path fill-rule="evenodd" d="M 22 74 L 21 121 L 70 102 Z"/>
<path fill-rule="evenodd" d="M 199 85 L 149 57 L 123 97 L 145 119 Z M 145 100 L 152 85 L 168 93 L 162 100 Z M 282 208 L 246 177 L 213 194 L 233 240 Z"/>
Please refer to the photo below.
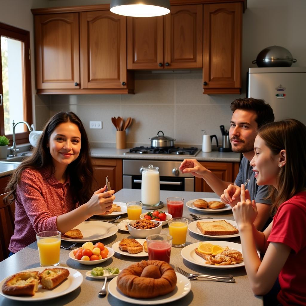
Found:
<path fill-rule="evenodd" d="M 200 162 L 222 181 L 233 183 L 239 171 L 239 162 Z M 195 177 L 195 191 L 214 192 L 208 184 L 200 177 Z"/>

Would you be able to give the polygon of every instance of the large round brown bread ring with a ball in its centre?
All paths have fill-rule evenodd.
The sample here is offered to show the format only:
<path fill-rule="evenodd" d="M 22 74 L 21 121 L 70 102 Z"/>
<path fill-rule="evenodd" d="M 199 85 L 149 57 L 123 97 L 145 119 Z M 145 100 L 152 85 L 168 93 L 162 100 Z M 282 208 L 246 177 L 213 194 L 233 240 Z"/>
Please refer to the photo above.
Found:
<path fill-rule="evenodd" d="M 152 278 L 151 273 L 146 273 L 148 271 L 145 271 L 144 275 L 151 277 L 141 277 L 144 269 L 150 265 L 159 269 L 159 278 Z M 159 275 L 155 275 L 157 276 Z M 170 293 L 174 290 L 176 282 L 177 277 L 173 268 L 161 260 L 142 260 L 140 263 L 134 263 L 123 269 L 117 278 L 118 289 L 125 295 L 136 298 L 152 298 Z"/>

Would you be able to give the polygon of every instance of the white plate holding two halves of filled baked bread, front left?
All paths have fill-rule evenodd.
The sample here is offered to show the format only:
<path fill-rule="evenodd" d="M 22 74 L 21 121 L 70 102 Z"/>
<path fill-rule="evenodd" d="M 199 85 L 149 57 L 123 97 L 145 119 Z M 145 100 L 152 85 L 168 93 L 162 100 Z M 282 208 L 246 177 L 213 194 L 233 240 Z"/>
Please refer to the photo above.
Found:
<path fill-rule="evenodd" d="M 20 271 L 0 282 L 0 294 L 10 300 L 36 302 L 61 297 L 83 282 L 69 267 L 37 267 Z"/>

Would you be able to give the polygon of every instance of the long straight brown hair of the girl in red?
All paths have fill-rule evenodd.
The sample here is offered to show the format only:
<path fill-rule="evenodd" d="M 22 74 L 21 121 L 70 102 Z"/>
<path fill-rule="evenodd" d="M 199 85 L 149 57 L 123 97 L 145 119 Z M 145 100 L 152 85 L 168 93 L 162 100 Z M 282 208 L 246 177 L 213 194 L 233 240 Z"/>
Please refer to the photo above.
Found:
<path fill-rule="evenodd" d="M 268 123 L 258 135 L 265 141 L 272 155 L 286 150 L 286 164 L 278 173 L 278 190 L 269 186 L 268 198 L 272 211 L 306 187 L 306 126 L 298 120 L 287 119 Z"/>

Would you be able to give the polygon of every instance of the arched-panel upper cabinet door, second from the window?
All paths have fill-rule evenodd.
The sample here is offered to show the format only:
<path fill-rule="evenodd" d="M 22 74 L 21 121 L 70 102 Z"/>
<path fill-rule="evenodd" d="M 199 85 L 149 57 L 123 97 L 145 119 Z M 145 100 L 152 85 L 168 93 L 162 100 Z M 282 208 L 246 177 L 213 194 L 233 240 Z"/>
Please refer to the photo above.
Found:
<path fill-rule="evenodd" d="M 82 88 L 126 88 L 126 17 L 80 13 Z"/>

